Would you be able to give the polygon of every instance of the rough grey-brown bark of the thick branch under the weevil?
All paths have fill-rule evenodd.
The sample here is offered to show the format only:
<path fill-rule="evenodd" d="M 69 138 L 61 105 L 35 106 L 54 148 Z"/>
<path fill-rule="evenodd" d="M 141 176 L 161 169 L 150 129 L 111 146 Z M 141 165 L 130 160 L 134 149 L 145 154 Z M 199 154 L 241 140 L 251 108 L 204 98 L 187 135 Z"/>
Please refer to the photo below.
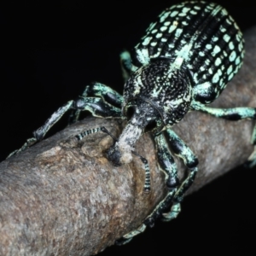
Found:
<path fill-rule="evenodd" d="M 256 106 L 256 28 L 246 34 L 244 65 L 212 106 Z M 245 85 L 246 84 L 246 85 Z M 118 136 L 115 120 L 84 119 L 0 164 L 1 255 L 91 255 L 137 228 L 165 195 L 164 176 L 155 164 L 148 135 L 137 152 L 148 159 L 152 192 L 143 194 L 143 164 L 113 167 L 103 133 L 77 142 L 80 131 L 105 125 Z M 247 160 L 253 122 L 188 113 L 173 129 L 199 158 L 192 193 Z M 177 160 L 180 176 L 185 170 Z"/>

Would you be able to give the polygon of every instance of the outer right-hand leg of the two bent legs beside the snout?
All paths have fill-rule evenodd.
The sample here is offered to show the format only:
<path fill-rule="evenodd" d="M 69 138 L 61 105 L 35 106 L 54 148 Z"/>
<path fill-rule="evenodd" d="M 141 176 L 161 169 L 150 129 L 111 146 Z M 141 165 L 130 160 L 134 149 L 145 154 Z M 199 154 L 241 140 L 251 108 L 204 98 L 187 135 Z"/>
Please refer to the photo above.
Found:
<path fill-rule="evenodd" d="M 173 205 L 171 212 L 164 214 L 164 220 L 170 221 L 177 217 L 180 212 L 180 202 L 183 201 L 183 195 L 192 185 L 195 180 L 195 175 L 198 171 L 198 160 L 192 150 L 183 142 L 183 140 L 177 136 L 177 134 L 171 129 L 166 130 L 167 137 L 174 154 L 183 159 L 185 166 L 189 169 L 189 175 L 178 187 L 177 192 L 173 197 Z"/>

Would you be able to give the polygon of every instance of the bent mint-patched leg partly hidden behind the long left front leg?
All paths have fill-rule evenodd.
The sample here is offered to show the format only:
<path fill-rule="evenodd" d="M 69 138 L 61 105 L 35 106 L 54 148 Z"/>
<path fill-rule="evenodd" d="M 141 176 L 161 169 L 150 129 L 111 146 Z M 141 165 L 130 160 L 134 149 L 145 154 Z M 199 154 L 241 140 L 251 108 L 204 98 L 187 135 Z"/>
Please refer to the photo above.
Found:
<path fill-rule="evenodd" d="M 105 84 L 94 82 L 90 85 L 87 85 L 84 89 L 82 97 L 87 96 L 98 96 L 101 97 L 102 100 L 112 104 L 117 108 L 122 107 L 122 103 L 124 102 L 123 96 L 119 95 L 119 93 Z M 79 120 L 79 115 L 82 110 L 75 109 L 69 116 L 68 124 L 71 125 Z"/>

